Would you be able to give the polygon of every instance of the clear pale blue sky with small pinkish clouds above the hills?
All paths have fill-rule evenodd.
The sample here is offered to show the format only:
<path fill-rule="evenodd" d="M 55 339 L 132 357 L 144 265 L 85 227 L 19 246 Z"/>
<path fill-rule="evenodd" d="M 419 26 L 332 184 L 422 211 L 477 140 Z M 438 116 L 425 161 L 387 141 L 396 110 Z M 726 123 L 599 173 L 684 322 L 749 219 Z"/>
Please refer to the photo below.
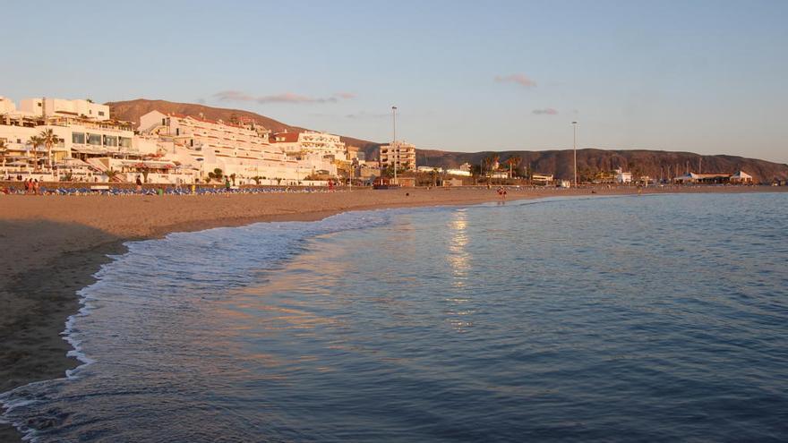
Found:
<path fill-rule="evenodd" d="M 0 95 L 248 109 L 424 149 L 788 163 L 788 2 L 0 0 Z"/>

